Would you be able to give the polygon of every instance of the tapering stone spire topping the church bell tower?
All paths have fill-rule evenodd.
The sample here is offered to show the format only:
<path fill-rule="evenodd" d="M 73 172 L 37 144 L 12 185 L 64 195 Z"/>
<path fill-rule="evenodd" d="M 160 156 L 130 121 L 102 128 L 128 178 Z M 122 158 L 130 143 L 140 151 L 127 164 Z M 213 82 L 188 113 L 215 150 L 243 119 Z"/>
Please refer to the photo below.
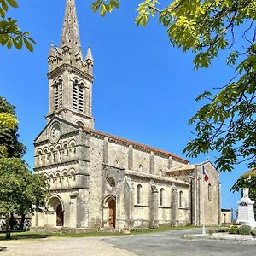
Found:
<path fill-rule="evenodd" d="M 73 55 L 76 55 L 81 49 L 75 0 L 67 0 L 61 35 L 61 48 L 64 46 L 70 47 L 73 51 Z"/>

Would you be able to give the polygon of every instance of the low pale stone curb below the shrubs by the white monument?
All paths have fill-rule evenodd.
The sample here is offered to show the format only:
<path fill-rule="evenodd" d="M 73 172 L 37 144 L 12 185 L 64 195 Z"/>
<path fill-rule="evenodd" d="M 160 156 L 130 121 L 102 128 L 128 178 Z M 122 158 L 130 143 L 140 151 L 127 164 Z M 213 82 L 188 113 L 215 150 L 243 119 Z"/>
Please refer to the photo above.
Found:
<path fill-rule="evenodd" d="M 213 233 L 212 235 L 202 234 L 188 234 L 184 235 L 185 238 L 206 238 L 213 240 L 230 240 L 230 241 L 256 241 L 256 236 L 251 235 L 231 235 L 223 233 Z"/>

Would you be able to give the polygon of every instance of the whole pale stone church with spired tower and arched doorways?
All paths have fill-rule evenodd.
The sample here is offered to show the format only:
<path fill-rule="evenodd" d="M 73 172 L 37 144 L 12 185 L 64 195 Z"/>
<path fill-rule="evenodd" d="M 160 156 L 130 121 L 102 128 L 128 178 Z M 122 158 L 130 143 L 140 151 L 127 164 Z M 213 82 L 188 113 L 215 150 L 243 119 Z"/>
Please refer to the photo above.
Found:
<path fill-rule="evenodd" d="M 50 195 L 32 229 L 219 224 L 219 175 L 210 161 L 192 165 L 95 130 L 94 59 L 90 48 L 83 57 L 74 0 L 67 0 L 61 45 L 51 44 L 48 63 L 49 114 L 34 142 L 34 170 L 47 178 Z"/>

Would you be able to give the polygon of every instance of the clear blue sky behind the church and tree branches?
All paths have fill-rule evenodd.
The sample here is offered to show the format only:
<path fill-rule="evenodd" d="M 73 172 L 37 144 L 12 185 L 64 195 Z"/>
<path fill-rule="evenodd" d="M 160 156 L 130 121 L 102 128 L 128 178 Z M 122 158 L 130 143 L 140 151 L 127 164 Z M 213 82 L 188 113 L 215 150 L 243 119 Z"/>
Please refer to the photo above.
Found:
<path fill-rule="evenodd" d="M 46 124 L 48 113 L 47 56 L 53 41 L 59 45 L 65 0 L 18 1 L 9 15 L 37 41 L 34 53 L 26 49 L 0 48 L 0 94 L 17 107 L 20 140 L 26 144 L 25 160 L 33 166 L 33 139 Z M 204 90 L 227 84 L 232 69 L 220 55 L 207 70 L 193 70 L 193 55 L 172 48 L 163 27 L 151 20 L 147 27 L 135 25 L 138 0 L 124 0 L 120 9 L 105 18 L 93 14 L 90 1 L 77 0 L 81 44 L 90 44 L 95 59 L 93 115 L 99 131 L 125 137 L 182 155 L 192 138 L 189 118 L 201 102 Z M 217 154 L 189 159 L 200 163 Z M 185 155 L 182 155 L 185 157 Z M 240 194 L 229 192 L 247 166 L 221 173 L 222 207 L 236 207 Z"/>

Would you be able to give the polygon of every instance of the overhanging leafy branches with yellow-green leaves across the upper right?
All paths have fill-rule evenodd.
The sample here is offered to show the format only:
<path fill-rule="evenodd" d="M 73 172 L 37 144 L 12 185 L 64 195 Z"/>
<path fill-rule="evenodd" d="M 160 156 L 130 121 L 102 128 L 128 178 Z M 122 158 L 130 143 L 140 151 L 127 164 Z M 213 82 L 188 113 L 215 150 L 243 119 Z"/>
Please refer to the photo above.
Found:
<path fill-rule="evenodd" d="M 228 54 L 226 64 L 234 76 L 215 91 L 205 91 L 195 101 L 207 101 L 189 125 L 195 138 L 183 153 L 189 157 L 217 151 L 217 168 L 231 171 L 246 161 L 256 166 L 256 1 L 175 0 L 159 9 L 157 0 L 145 0 L 137 8 L 137 26 L 158 17 L 173 46 L 195 54 L 195 69 L 209 67 L 220 51 Z M 119 8 L 119 0 L 96 0 L 92 9 L 102 16 Z M 214 94 L 215 92 L 215 94 Z"/>

